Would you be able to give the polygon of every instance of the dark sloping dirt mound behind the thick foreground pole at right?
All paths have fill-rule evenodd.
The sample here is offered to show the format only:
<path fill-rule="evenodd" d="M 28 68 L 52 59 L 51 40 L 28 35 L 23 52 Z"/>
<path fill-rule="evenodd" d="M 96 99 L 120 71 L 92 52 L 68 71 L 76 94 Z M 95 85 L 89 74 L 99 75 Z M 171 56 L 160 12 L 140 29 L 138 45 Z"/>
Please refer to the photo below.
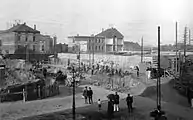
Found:
<path fill-rule="evenodd" d="M 161 85 L 161 99 L 162 101 L 179 104 L 182 106 L 189 106 L 187 98 L 182 96 L 177 90 L 172 87 L 172 81 Z M 157 87 L 150 86 L 140 95 L 142 97 L 148 97 L 153 100 L 157 100 Z"/>

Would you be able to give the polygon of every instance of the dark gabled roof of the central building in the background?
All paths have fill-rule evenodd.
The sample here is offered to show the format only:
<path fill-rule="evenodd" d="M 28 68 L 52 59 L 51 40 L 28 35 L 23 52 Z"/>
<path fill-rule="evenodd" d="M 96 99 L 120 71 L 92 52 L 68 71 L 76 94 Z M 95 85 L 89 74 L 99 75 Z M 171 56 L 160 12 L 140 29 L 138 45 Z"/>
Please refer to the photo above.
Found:
<path fill-rule="evenodd" d="M 106 38 L 116 37 L 116 38 L 119 38 L 119 39 L 123 39 L 123 37 L 124 37 L 116 28 L 109 28 L 105 31 L 102 31 L 101 33 L 99 33 L 96 36 L 103 36 L 103 37 L 106 37 Z"/>

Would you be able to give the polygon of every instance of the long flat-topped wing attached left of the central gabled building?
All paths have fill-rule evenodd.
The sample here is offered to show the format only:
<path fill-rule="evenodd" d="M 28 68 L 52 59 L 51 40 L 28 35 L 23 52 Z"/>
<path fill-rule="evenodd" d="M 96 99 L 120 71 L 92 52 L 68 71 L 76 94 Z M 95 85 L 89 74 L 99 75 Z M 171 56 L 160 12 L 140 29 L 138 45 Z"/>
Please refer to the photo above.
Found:
<path fill-rule="evenodd" d="M 101 36 L 70 36 L 68 42 L 69 52 L 105 52 L 105 38 Z"/>

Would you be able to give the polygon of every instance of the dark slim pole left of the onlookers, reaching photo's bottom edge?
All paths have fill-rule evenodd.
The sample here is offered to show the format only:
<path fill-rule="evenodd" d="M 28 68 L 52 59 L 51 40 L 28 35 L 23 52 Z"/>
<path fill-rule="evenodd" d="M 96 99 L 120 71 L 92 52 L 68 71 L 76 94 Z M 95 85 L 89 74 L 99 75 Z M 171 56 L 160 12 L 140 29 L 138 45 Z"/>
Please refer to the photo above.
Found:
<path fill-rule="evenodd" d="M 75 107 L 75 69 L 74 69 L 74 66 L 72 66 L 72 73 L 73 73 L 73 103 L 72 103 L 72 114 L 73 114 L 73 120 L 76 120 L 76 107 Z"/>

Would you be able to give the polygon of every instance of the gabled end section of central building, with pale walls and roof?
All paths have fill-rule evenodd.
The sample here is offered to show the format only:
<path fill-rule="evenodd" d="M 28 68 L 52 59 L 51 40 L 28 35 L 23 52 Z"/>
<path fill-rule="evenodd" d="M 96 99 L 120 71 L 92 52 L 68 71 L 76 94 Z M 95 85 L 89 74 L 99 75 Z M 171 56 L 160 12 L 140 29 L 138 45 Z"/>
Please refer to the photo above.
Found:
<path fill-rule="evenodd" d="M 105 52 L 123 51 L 124 36 L 116 29 L 110 28 L 97 34 L 96 37 L 105 38 Z"/>

